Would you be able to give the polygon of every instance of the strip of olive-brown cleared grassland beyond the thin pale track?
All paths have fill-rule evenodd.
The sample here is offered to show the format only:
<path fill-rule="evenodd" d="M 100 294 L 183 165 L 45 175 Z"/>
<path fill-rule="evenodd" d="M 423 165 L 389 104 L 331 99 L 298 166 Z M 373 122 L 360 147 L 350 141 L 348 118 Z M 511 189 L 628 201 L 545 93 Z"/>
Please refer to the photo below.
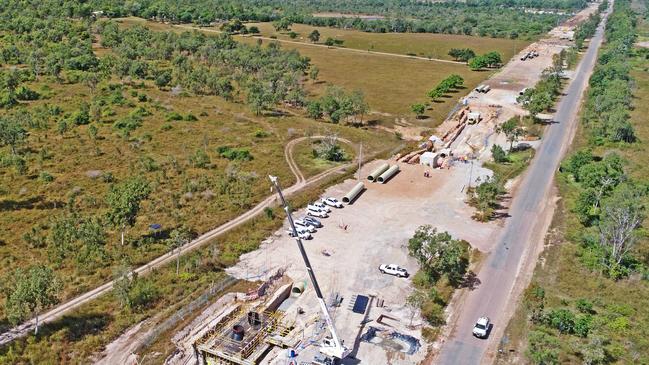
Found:
<path fill-rule="evenodd" d="M 314 27 L 304 24 L 293 24 L 291 30 L 297 33 L 295 39 L 288 32 L 277 32 L 272 23 L 247 23 L 247 27 L 256 26 L 261 35 L 278 39 L 310 42 L 309 34 L 314 29 L 320 33 L 320 43 L 327 38 L 344 41 L 343 46 L 361 50 L 388 52 L 396 54 L 417 55 L 422 57 L 452 60 L 448 55 L 451 48 L 471 48 L 476 53 L 498 51 L 507 60 L 531 43 L 529 40 L 511 40 L 503 38 L 474 37 L 455 34 L 431 33 L 367 33 L 352 29 Z"/>

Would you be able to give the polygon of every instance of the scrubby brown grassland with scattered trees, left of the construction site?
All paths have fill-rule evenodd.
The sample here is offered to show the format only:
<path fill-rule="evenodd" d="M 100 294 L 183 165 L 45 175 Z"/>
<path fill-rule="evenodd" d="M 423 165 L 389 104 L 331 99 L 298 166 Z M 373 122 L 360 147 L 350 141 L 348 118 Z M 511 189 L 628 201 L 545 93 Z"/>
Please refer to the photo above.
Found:
<path fill-rule="evenodd" d="M 124 28 L 89 9 L 0 6 L 0 329 L 118 285 L 0 349 L 0 363 L 84 362 L 129 325 L 221 280 L 281 224 L 277 215 L 169 273 L 127 274 L 263 200 L 268 174 L 291 185 L 284 145 L 323 124 L 301 116 L 311 66 L 296 51 Z M 368 152 L 399 143 L 378 130 L 327 129 L 368 138 Z"/>

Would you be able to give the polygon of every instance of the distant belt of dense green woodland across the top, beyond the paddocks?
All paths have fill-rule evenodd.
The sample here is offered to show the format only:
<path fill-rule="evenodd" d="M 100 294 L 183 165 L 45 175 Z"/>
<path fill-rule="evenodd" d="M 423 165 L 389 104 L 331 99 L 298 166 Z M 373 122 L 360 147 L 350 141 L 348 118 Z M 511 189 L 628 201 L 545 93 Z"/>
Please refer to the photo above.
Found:
<path fill-rule="evenodd" d="M 333 2 L 157 0 L 138 3 L 137 6 L 118 0 L 95 0 L 91 3 L 93 9 L 104 10 L 111 17 L 133 15 L 172 22 L 194 22 L 200 25 L 208 25 L 221 19 L 239 19 L 272 21 L 281 30 L 289 30 L 293 23 L 303 23 L 376 33 L 446 33 L 512 39 L 545 33 L 559 20 L 565 19 L 567 12 L 586 6 L 585 0 L 508 0 L 466 3 L 403 0 L 381 3 L 358 0 Z M 526 8 L 532 11 L 526 11 Z M 314 15 L 317 12 L 334 12 L 337 16 L 319 17 L 316 16 L 317 14 Z M 371 14 L 371 16 L 361 18 L 354 17 L 353 14 Z"/>

